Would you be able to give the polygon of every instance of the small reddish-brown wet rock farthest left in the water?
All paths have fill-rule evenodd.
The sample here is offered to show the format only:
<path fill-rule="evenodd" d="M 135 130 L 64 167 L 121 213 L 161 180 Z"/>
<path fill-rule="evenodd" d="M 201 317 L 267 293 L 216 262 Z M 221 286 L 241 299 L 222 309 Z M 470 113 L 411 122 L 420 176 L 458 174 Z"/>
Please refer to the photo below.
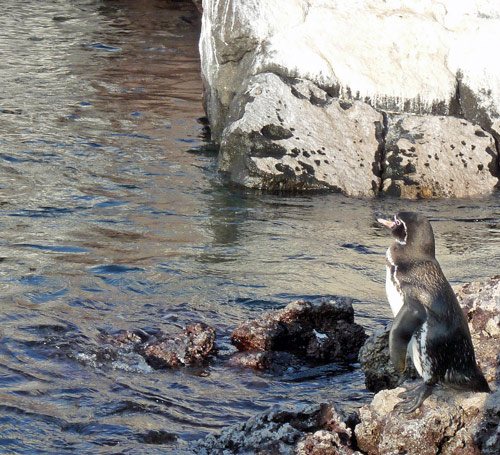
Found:
<path fill-rule="evenodd" d="M 150 338 L 140 351 L 154 368 L 177 367 L 199 362 L 213 350 L 215 330 L 196 323 L 177 336 L 161 334 Z"/>

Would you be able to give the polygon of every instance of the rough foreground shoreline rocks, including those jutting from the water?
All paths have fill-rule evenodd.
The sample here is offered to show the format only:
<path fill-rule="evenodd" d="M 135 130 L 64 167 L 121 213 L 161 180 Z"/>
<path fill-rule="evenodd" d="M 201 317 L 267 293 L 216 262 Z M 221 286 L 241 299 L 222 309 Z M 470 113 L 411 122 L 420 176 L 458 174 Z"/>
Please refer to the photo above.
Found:
<path fill-rule="evenodd" d="M 438 387 L 410 414 L 394 410 L 398 395 L 418 377 L 392 367 L 390 327 L 369 337 L 354 320 L 348 298 L 299 300 L 242 322 L 231 334 L 229 368 L 284 376 L 332 362 L 358 361 L 371 403 L 346 415 L 335 403 L 300 409 L 273 407 L 247 422 L 191 444 L 198 455 L 497 455 L 500 453 L 500 275 L 456 290 L 469 321 L 476 358 L 493 392 Z M 99 358 L 133 353 L 149 367 L 179 368 L 218 356 L 215 330 L 193 323 L 175 334 L 141 330 L 102 334 Z M 410 362 L 411 364 L 411 362 Z"/>

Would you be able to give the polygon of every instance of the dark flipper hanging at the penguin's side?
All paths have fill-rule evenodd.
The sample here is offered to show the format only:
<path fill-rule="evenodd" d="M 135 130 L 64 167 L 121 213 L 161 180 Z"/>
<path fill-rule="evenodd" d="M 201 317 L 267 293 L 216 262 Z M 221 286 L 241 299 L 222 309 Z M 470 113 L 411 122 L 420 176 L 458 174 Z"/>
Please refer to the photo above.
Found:
<path fill-rule="evenodd" d="M 389 334 L 389 355 L 392 364 L 403 371 L 406 366 L 406 350 L 413 334 L 427 319 L 425 307 L 415 298 L 405 295 L 404 304 L 394 319 Z"/>

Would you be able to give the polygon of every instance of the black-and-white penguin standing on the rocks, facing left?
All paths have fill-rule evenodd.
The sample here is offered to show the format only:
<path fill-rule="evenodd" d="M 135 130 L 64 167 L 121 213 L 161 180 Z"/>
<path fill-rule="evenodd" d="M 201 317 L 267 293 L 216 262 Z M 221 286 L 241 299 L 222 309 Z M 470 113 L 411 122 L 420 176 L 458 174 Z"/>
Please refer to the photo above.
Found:
<path fill-rule="evenodd" d="M 479 369 L 465 313 L 435 257 L 429 221 L 400 212 L 394 221 L 379 218 L 394 243 L 386 253 L 386 292 L 394 314 L 389 334 L 393 365 L 405 369 L 406 353 L 423 383 L 400 394 L 397 409 L 411 413 L 437 384 L 460 390 L 490 392 Z"/>

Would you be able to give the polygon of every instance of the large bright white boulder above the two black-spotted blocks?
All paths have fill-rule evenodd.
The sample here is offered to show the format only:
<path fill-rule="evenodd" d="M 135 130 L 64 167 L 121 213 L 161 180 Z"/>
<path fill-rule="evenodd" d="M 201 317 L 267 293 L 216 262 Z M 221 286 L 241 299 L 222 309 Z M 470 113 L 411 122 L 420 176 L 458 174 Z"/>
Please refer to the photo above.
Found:
<path fill-rule="evenodd" d="M 245 103 L 236 95 L 261 73 L 307 79 L 383 115 L 458 117 L 498 138 L 499 42 L 500 3 L 486 0 L 204 0 L 200 54 L 213 139 L 223 143 L 234 112 L 245 109 L 233 105 Z"/>

